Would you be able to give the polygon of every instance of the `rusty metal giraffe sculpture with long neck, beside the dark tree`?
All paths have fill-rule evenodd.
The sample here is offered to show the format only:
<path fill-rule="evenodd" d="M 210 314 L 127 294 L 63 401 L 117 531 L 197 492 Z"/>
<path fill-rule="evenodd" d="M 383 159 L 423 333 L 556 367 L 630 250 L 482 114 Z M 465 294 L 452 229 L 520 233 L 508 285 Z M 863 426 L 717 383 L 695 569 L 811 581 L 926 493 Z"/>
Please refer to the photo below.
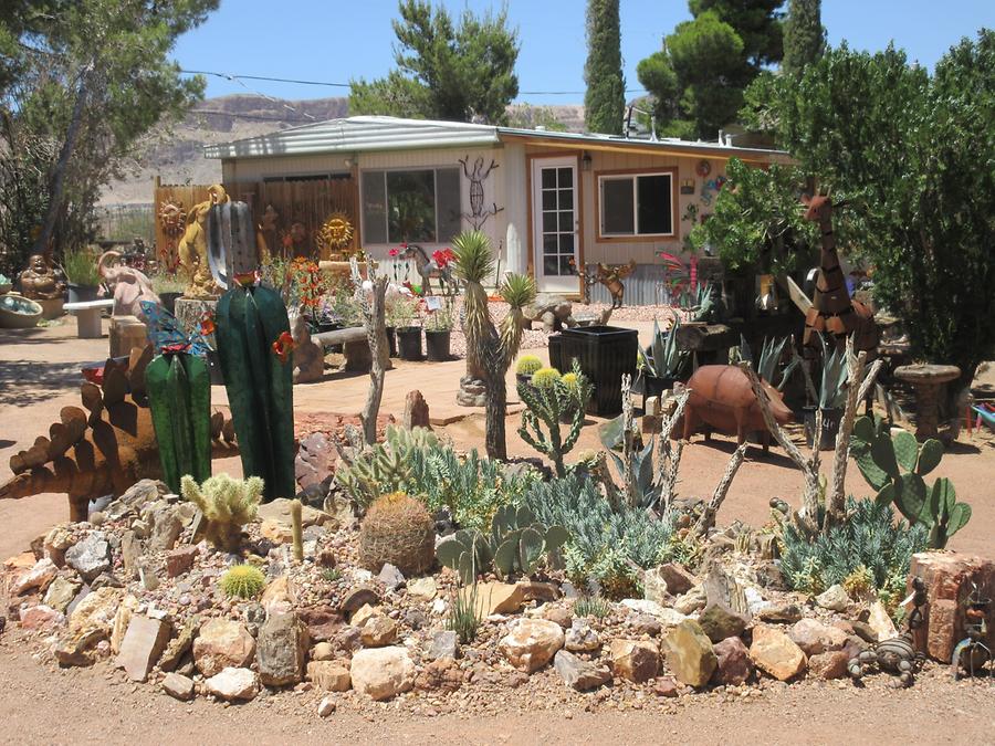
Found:
<path fill-rule="evenodd" d="M 877 357 L 880 333 L 873 313 L 865 304 L 853 301 L 847 290 L 847 279 L 839 265 L 836 252 L 836 235 L 832 232 L 832 202 L 828 195 L 802 198 L 806 206 L 805 219 L 819 224 L 821 246 L 819 251 L 819 276 L 811 298 L 811 308 L 805 316 L 804 344 L 816 345 L 814 333 L 828 332 L 837 346 L 846 344 L 853 335 L 853 349 L 867 351 L 867 358 Z"/>

